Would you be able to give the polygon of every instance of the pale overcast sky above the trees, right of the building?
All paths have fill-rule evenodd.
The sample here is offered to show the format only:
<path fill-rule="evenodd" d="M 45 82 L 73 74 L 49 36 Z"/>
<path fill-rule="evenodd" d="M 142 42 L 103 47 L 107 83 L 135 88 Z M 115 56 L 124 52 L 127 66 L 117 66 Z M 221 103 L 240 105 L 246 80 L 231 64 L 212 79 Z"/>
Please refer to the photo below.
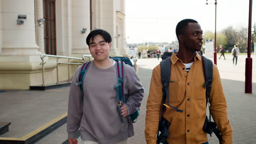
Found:
<path fill-rule="evenodd" d="M 175 28 L 183 19 L 199 22 L 204 32 L 214 32 L 214 0 L 126 0 L 127 43 L 177 40 Z M 233 26 L 248 27 L 249 0 L 217 0 L 217 32 Z M 256 22 L 256 1 L 252 6 L 252 26 Z"/>

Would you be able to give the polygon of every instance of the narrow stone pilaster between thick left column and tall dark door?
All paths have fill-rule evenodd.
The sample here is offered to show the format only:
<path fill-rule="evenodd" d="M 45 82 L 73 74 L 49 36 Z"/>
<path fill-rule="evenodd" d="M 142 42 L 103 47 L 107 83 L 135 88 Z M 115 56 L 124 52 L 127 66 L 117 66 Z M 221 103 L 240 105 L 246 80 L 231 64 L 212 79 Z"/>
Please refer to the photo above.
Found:
<path fill-rule="evenodd" d="M 37 22 L 37 20 L 44 18 L 43 11 L 43 1 L 35 0 L 35 9 L 36 9 L 36 36 L 37 36 L 37 45 L 39 46 L 39 51 L 45 53 L 44 51 L 44 23 L 45 22 Z"/>

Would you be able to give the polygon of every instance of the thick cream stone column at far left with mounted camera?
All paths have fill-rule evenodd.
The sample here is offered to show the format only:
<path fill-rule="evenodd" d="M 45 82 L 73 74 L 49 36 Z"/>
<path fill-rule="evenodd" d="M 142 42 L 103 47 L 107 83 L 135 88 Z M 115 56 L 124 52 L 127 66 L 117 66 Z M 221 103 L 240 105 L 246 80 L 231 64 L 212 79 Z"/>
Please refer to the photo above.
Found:
<path fill-rule="evenodd" d="M 36 56 L 38 51 L 34 26 L 34 0 L 1 1 L 2 52 L 0 56 Z M 22 25 L 18 15 L 26 15 Z"/>

